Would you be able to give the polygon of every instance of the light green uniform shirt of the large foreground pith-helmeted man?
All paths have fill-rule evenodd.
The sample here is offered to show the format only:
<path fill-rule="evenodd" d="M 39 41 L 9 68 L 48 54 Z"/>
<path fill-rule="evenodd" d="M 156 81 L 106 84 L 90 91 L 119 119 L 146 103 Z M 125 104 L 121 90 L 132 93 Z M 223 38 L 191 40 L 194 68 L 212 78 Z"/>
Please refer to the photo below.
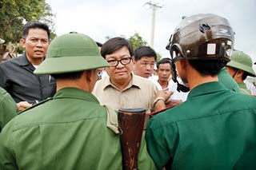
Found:
<path fill-rule="evenodd" d="M 91 93 L 60 89 L 14 117 L 0 135 L 0 169 L 122 169 L 119 136 Z M 139 169 L 154 169 L 142 137 Z"/>

